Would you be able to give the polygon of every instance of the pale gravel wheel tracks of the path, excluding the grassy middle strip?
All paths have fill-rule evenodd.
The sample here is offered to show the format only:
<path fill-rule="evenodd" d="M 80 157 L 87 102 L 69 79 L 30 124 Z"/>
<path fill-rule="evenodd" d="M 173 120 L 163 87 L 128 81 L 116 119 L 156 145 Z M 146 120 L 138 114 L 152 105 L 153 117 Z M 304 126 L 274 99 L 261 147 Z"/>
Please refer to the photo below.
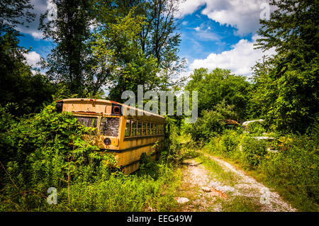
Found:
<path fill-rule="evenodd" d="M 212 176 L 211 171 L 196 162 L 195 159 L 188 159 L 184 162 L 186 167 L 183 171 L 183 183 L 180 195 L 187 197 L 189 201 L 180 206 L 180 211 L 223 211 L 218 198 L 231 201 L 235 197 L 247 197 L 254 200 L 262 212 L 293 212 L 297 211 L 286 203 L 278 193 L 257 182 L 244 171 L 235 169 L 232 164 L 204 154 L 212 161 L 217 162 L 224 171 L 230 171 L 237 178 L 234 186 L 225 185 Z M 180 198 L 180 197 L 179 197 Z"/>

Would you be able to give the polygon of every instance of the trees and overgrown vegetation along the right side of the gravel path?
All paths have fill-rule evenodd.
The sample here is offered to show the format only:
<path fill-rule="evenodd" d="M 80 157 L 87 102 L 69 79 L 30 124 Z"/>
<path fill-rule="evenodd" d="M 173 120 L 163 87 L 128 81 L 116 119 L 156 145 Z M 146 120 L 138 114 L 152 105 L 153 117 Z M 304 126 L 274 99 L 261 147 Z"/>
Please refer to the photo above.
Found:
<path fill-rule="evenodd" d="M 271 4 L 276 10 L 260 21 L 257 47 L 276 55 L 255 64 L 252 84 L 223 69 L 194 70 L 186 89 L 201 91 L 205 111 L 184 131 L 208 152 L 257 172 L 299 210 L 318 211 L 318 2 Z M 235 115 L 223 113 L 228 108 Z M 264 121 L 228 130 L 228 118 Z"/>

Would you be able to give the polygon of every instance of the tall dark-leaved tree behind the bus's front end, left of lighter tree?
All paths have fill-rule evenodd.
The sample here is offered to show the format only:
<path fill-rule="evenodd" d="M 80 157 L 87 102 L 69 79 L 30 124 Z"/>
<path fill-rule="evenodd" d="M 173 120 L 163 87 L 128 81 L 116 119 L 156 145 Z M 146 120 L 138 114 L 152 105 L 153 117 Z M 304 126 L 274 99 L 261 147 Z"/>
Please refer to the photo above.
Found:
<path fill-rule="evenodd" d="M 70 94 L 86 96 L 94 81 L 94 59 L 91 57 L 91 1 L 61 0 L 57 4 L 57 18 L 48 21 L 46 11 L 40 16 L 40 29 L 45 39 L 53 40 L 55 47 L 42 61 L 47 77 L 65 84 Z M 100 88 L 100 87 L 99 87 Z M 94 94 L 98 90 L 94 90 Z"/>

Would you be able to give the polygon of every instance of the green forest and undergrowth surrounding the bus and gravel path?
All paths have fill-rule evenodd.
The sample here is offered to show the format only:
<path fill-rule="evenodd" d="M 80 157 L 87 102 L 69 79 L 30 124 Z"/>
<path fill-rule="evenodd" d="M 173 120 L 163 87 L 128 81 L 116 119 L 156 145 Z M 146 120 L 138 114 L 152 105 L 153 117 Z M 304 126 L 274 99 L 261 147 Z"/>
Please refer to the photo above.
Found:
<path fill-rule="evenodd" d="M 216 196 L 204 209 L 176 201 L 191 203 L 201 190 L 183 182 L 184 162 L 192 159 L 218 183 L 235 187 L 236 175 L 211 160 L 218 157 L 295 210 L 318 212 L 317 0 L 269 1 L 276 9 L 269 20 L 260 19 L 255 48 L 276 54 L 256 59 L 250 79 L 218 67 L 182 76 L 179 0 L 51 2 L 56 14 L 43 12 L 38 29 L 53 47 L 36 70 L 26 64 L 31 49 L 21 46 L 18 31 L 35 20 L 33 4 L 0 2 L 0 211 L 214 211 L 217 204 L 220 211 L 267 210 L 227 191 L 228 198 Z M 123 92 L 137 94 L 138 85 L 158 94 L 198 91 L 198 119 L 185 123 L 186 115 L 165 115 L 159 160 L 144 159 L 125 175 L 111 154 L 82 139 L 91 129 L 71 113 L 58 113 L 55 101 L 123 103 Z M 262 121 L 230 128 L 230 119 Z M 47 203 L 50 187 L 57 188 L 55 205 Z"/>

